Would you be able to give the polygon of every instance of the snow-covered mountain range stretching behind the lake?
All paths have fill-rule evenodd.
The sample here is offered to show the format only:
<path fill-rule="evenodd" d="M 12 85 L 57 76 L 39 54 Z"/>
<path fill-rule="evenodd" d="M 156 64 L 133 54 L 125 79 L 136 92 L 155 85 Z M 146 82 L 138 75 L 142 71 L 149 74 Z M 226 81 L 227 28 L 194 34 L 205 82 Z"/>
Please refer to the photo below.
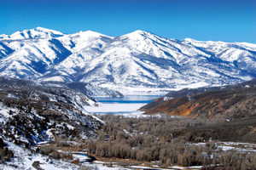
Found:
<path fill-rule="evenodd" d="M 90 82 L 130 92 L 219 86 L 256 77 L 256 44 L 200 42 L 133 31 L 63 34 L 45 28 L 0 36 L 0 75 Z"/>

